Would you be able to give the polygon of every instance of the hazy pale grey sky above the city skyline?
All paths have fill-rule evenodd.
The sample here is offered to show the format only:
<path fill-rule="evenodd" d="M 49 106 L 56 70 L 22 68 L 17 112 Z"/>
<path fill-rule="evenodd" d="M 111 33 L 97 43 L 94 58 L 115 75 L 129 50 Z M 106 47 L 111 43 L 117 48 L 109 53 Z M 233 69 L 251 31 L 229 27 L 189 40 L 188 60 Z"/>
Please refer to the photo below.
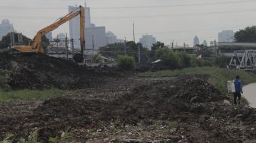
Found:
<path fill-rule="evenodd" d="M 9 19 L 14 29 L 28 37 L 68 13 L 68 5 L 82 0 L 1 0 L 0 21 Z M 256 0 L 87 0 L 91 22 L 105 26 L 118 38 L 136 41 L 152 34 L 166 44 L 193 44 L 194 36 L 210 42 L 221 30 L 238 30 L 256 25 Z M 69 33 L 68 23 L 53 31 Z"/>

